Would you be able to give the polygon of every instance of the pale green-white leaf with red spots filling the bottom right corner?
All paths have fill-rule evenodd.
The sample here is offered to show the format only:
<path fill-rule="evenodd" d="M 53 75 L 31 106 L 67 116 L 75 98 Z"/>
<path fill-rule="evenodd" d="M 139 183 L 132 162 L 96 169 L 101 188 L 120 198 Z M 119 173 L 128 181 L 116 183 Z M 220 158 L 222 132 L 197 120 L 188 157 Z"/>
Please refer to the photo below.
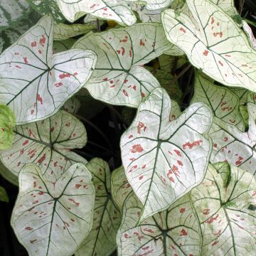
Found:
<path fill-rule="evenodd" d="M 252 174 L 230 166 L 230 182 L 209 166 L 206 178 L 191 192 L 201 223 L 201 255 L 255 255 L 256 182 Z"/>

